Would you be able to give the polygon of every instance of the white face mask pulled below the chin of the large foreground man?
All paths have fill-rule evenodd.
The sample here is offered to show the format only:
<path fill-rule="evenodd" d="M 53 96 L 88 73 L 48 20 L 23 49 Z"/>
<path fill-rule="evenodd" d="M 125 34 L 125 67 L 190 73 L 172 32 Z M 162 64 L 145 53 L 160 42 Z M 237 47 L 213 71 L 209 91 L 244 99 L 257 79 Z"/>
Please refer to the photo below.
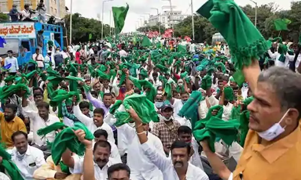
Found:
<path fill-rule="evenodd" d="M 284 126 L 282 128 L 282 126 L 280 125 L 280 123 L 285 118 L 285 116 L 287 115 L 287 113 L 289 111 L 290 111 L 290 109 L 287 110 L 287 112 L 284 114 L 284 116 L 282 116 L 282 118 L 280 119 L 280 121 L 278 123 L 275 123 L 274 125 L 272 125 L 271 128 L 268 128 L 266 131 L 257 132 L 257 134 L 262 139 L 265 139 L 267 141 L 271 141 L 271 140 L 275 139 L 276 137 L 278 137 L 280 134 L 282 134 L 285 131 L 285 127 L 286 126 Z"/>

